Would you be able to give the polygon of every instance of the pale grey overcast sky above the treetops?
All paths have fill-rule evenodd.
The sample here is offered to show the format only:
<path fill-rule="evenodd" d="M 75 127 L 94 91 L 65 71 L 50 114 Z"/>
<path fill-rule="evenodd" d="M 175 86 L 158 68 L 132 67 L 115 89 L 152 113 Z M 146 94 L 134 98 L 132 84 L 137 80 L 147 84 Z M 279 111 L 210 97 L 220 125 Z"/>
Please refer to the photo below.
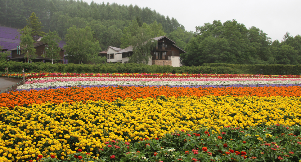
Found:
<path fill-rule="evenodd" d="M 90 4 L 92 0 L 83 0 Z M 272 41 L 280 42 L 286 32 L 301 35 L 301 0 L 94 0 L 96 3 L 115 2 L 148 7 L 161 15 L 174 17 L 188 31 L 213 20 L 236 19 L 247 28 L 255 26 Z"/>

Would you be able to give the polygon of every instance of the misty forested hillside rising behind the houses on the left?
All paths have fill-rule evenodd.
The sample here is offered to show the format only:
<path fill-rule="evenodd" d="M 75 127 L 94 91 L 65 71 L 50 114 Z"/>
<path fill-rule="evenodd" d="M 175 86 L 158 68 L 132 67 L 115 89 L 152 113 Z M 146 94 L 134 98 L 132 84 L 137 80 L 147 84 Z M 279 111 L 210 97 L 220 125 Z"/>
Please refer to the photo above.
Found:
<path fill-rule="evenodd" d="M 166 34 L 184 26 L 175 18 L 161 15 L 148 7 L 120 5 L 117 3 L 91 2 L 75 0 L 14 0 L 0 1 L 0 25 L 24 28 L 26 19 L 34 12 L 42 22 L 43 31 L 56 30 L 64 40 L 67 29 L 73 25 L 84 28 L 90 26 L 94 37 L 102 49 L 107 46 L 120 46 L 120 37 L 125 27 L 137 20 L 139 25 L 161 23 Z M 159 4 L 158 4 L 159 5 Z M 16 10 L 17 9 L 17 10 Z"/>

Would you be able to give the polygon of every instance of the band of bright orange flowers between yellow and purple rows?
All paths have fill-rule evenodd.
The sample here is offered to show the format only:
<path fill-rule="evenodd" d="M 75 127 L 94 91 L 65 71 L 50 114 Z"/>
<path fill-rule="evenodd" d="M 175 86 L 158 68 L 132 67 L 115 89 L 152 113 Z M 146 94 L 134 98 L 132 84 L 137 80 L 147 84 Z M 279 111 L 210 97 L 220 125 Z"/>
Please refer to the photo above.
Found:
<path fill-rule="evenodd" d="M 146 98 L 157 96 L 301 96 L 300 86 L 288 87 L 225 87 L 225 88 L 187 88 L 187 87 L 70 87 L 49 90 L 12 91 L 0 94 L 0 107 L 27 106 L 28 104 L 42 104 L 46 102 L 63 103 L 76 101 L 99 101 L 101 99 L 112 102 L 118 98 Z"/>

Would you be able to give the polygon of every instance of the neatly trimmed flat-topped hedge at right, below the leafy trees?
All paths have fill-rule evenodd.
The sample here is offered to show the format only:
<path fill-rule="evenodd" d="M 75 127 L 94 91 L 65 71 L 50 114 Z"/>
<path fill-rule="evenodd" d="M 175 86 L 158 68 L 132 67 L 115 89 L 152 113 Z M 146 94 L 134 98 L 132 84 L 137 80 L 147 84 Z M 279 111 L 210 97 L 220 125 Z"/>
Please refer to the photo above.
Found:
<path fill-rule="evenodd" d="M 301 65 L 237 65 L 227 63 L 203 63 L 204 67 L 229 67 L 239 69 L 245 74 L 300 75 Z"/>

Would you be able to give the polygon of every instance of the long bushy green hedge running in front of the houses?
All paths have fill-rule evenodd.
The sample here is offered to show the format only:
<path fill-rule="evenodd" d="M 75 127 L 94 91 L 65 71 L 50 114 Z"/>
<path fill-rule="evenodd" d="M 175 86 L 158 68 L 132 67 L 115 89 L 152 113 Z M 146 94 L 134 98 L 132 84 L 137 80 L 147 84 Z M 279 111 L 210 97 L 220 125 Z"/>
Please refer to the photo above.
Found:
<path fill-rule="evenodd" d="M 21 73 L 25 72 L 69 72 L 69 73 L 188 73 L 188 74 L 238 74 L 239 70 L 231 67 L 172 67 L 159 65 L 145 65 L 137 63 L 104 63 L 104 64 L 51 64 L 51 63 L 20 63 L 15 61 L 0 63 L 0 72 Z"/>

